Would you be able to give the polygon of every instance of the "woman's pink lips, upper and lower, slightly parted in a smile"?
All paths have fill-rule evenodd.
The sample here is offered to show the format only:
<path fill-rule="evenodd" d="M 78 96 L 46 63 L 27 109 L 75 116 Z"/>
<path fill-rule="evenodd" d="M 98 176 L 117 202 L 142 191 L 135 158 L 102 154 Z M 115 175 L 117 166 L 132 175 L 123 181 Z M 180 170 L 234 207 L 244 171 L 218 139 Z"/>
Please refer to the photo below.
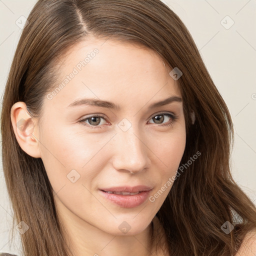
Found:
<path fill-rule="evenodd" d="M 122 187 L 109 187 L 109 188 L 103 188 L 100 189 L 100 194 L 107 200 L 123 207 L 123 208 L 134 208 L 142 203 L 144 203 L 148 196 L 150 191 L 152 190 L 151 187 L 148 186 L 122 186 Z M 113 191 L 113 192 L 139 192 L 138 194 L 134 195 L 122 195 L 122 194 L 113 194 L 113 193 L 107 193 L 105 191 Z"/>

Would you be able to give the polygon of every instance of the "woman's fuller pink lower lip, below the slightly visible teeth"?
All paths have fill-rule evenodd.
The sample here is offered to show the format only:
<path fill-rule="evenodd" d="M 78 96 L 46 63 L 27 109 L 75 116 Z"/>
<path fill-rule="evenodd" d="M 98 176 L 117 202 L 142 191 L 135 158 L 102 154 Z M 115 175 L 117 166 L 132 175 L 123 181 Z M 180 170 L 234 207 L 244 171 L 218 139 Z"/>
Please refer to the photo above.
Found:
<path fill-rule="evenodd" d="M 147 198 L 151 190 L 142 191 L 134 195 L 110 194 L 99 190 L 100 193 L 108 200 L 118 204 L 124 208 L 133 208 L 142 204 Z"/>

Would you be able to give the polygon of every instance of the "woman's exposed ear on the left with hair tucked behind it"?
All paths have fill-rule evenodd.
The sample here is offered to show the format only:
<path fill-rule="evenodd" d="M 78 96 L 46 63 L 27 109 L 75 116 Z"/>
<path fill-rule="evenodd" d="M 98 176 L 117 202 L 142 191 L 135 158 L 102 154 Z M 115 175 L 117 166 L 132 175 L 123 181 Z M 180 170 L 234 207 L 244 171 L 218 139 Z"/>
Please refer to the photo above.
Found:
<path fill-rule="evenodd" d="M 10 110 L 11 124 L 19 146 L 32 157 L 41 157 L 36 119 L 32 118 L 25 102 L 14 103 Z"/>

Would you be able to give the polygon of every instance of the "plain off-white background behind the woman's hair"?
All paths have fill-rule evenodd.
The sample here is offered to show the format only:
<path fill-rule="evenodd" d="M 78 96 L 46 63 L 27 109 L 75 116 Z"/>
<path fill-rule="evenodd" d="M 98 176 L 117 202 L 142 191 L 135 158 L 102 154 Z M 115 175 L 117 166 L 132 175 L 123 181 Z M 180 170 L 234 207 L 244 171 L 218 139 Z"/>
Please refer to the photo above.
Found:
<path fill-rule="evenodd" d="M 1 95 L 18 42 L 20 16 L 35 0 L 0 0 Z M 163 0 L 190 31 L 206 67 L 224 98 L 234 123 L 232 174 L 256 202 L 256 0 Z M 230 20 L 234 24 L 226 29 Z M 0 105 L 1 106 L 1 105 Z M 10 236 L 12 208 L 0 166 L 0 252 L 19 253 L 19 233 Z M 12 242 L 12 246 L 10 246 Z"/>

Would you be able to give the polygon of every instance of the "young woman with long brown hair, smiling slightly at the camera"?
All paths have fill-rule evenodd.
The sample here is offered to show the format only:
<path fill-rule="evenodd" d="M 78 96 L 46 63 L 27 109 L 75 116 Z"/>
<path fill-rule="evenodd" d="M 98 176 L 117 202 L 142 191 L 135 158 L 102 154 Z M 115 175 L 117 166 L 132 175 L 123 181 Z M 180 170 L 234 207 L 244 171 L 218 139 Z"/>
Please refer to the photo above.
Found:
<path fill-rule="evenodd" d="M 2 104 L 24 255 L 255 250 L 256 209 L 229 169 L 229 111 L 161 1 L 38 0 Z"/>

